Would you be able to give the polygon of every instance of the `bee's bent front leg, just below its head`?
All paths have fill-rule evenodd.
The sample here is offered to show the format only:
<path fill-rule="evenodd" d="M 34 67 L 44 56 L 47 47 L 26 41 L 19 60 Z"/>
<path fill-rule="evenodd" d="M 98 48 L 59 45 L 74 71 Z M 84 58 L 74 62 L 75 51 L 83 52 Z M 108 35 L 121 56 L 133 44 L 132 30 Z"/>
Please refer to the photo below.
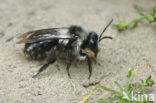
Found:
<path fill-rule="evenodd" d="M 90 57 L 86 54 L 86 53 L 82 53 L 82 51 L 80 51 L 80 56 L 85 56 L 87 63 L 88 63 L 88 70 L 89 70 L 89 77 L 88 79 L 90 79 L 91 75 L 92 75 L 92 61 L 90 59 Z"/>

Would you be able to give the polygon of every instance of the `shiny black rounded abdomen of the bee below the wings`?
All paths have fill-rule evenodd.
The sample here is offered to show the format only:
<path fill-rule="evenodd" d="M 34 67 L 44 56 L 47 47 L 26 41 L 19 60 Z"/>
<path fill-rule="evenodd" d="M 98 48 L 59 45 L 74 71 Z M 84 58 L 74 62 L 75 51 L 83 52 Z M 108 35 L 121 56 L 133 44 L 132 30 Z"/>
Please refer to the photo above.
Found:
<path fill-rule="evenodd" d="M 46 57 L 46 52 L 57 44 L 57 41 L 46 40 L 36 43 L 26 43 L 24 52 L 32 59 L 41 59 Z"/>

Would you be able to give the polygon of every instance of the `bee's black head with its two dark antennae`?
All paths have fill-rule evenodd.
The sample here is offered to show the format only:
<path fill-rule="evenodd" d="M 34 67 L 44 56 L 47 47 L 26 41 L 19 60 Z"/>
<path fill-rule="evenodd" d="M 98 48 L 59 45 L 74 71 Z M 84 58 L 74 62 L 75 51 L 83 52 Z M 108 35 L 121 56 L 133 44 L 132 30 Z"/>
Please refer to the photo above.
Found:
<path fill-rule="evenodd" d="M 97 57 L 97 54 L 99 52 L 99 44 L 100 42 L 105 39 L 109 38 L 112 39 L 112 37 L 104 36 L 102 37 L 105 30 L 108 28 L 108 26 L 112 23 L 113 19 L 109 22 L 109 24 L 104 28 L 102 33 L 98 36 L 95 32 L 90 32 L 87 40 L 87 47 L 94 52 L 95 57 Z"/>

